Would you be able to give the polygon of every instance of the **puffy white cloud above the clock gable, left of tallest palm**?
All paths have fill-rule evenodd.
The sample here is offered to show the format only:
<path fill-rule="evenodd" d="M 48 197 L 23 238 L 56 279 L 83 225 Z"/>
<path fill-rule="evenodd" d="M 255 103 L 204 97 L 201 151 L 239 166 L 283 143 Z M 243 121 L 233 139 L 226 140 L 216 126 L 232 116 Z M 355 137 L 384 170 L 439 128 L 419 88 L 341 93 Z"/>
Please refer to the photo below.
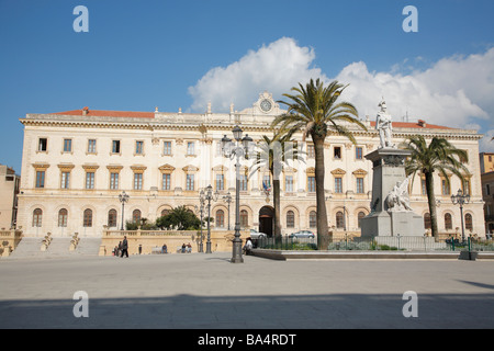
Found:
<path fill-rule="evenodd" d="M 189 88 L 193 99 L 191 110 L 203 112 L 207 102 L 215 112 L 229 111 L 232 102 L 240 110 L 250 106 L 252 99 L 265 90 L 280 97 L 299 82 L 324 79 L 321 69 L 312 67 L 314 59 L 314 49 L 282 37 L 257 52 L 248 52 L 226 68 L 215 67 L 206 72 Z"/>

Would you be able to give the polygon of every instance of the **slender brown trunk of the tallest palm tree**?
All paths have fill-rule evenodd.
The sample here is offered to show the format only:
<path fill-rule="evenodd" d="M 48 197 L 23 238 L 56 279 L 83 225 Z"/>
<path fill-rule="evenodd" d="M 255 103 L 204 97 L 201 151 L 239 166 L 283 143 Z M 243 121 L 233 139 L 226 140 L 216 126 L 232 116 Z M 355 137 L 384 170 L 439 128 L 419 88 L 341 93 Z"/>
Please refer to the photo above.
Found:
<path fill-rule="evenodd" d="M 326 214 L 326 199 L 324 191 L 324 137 L 312 134 L 315 151 L 315 183 L 316 183 L 316 205 L 317 205 L 317 249 L 327 250 L 329 245 L 329 234 Z"/>

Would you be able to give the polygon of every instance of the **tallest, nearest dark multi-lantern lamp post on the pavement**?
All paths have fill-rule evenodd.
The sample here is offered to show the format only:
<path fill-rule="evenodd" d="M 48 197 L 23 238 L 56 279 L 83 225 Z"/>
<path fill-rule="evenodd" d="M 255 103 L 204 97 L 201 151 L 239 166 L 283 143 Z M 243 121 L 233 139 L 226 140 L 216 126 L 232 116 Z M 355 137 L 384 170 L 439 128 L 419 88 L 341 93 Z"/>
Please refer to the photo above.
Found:
<path fill-rule="evenodd" d="M 252 138 L 246 134 L 242 137 L 243 131 L 237 125 L 233 128 L 235 144 L 232 143 L 226 135 L 222 138 L 223 155 L 233 159 L 236 157 L 235 163 L 235 238 L 233 240 L 232 263 L 243 263 L 242 257 L 242 239 L 240 239 L 240 156 L 248 158 L 250 148 L 252 147 Z"/>

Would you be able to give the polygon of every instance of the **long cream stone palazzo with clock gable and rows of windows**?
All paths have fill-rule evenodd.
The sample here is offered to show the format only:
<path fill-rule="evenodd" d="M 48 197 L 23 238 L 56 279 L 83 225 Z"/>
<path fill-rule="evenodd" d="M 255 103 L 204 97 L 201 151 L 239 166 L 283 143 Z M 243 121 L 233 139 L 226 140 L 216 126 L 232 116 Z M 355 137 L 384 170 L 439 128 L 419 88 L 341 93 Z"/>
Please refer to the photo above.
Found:
<path fill-rule="evenodd" d="M 378 110 L 378 107 L 377 107 Z M 272 135 L 270 123 L 281 113 L 271 94 L 261 93 L 251 107 L 229 113 L 192 114 L 155 112 L 96 111 L 88 107 L 50 114 L 27 114 L 24 125 L 22 181 L 18 224 L 26 236 L 101 236 L 104 227 L 117 229 L 124 220 L 156 219 L 178 205 L 195 211 L 199 191 L 211 184 L 221 193 L 212 203 L 211 216 L 216 229 L 234 224 L 234 202 L 228 212 L 222 199 L 235 194 L 235 161 L 224 158 L 221 138 L 233 138 L 239 125 L 255 141 Z M 363 157 L 379 145 L 374 122 L 364 118 L 368 131 L 351 126 L 357 145 L 338 135 L 326 140 L 326 200 L 329 226 L 335 233 L 359 235 L 359 218 L 369 214 L 372 165 Z M 439 231 L 458 233 L 460 210 L 450 195 L 459 188 L 471 194 L 464 208 L 468 230 L 485 236 L 479 139 L 474 131 L 453 129 L 418 123 L 393 123 L 395 143 L 414 134 L 427 138 L 440 136 L 469 152 L 471 176 L 465 184 L 451 177 L 451 186 L 437 176 Z M 281 173 L 282 234 L 301 229 L 315 230 L 314 148 L 295 135 L 306 155 L 294 160 Z M 240 180 L 240 222 L 244 228 L 272 233 L 272 193 L 268 196 L 263 181 L 268 170 L 249 172 L 243 163 Z M 119 194 L 130 201 L 122 206 Z M 411 193 L 413 210 L 428 227 L 427 197 L 420 176 Z"/>

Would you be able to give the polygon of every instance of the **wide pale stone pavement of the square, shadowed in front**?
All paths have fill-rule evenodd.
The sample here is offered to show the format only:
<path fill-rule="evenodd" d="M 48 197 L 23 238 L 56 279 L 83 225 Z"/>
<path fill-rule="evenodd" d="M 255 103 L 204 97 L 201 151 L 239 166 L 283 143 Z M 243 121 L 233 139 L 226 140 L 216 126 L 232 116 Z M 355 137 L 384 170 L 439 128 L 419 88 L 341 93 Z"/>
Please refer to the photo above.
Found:
<path fill-rule="evenodd" d="M 0 328 L 493 328 L 494 261 L 231 253 L 0 260 Z M 89 317 L 72 309 L 88 294 Z M 407 291 L 418 317 L 404 317 Z"/>

